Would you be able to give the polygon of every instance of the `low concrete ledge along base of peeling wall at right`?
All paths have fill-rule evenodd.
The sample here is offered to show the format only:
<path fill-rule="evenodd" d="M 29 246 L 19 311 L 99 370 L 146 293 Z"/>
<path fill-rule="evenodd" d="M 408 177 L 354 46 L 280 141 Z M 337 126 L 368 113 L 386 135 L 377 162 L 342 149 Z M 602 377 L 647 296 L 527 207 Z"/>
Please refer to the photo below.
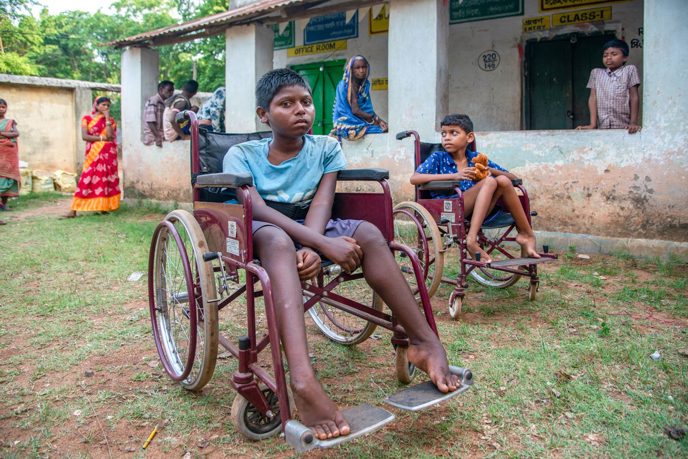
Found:
<path fill-rule="evenodd" d="M 662 241 L 659 239 L 631 239 L 576 233 L 551 233 L 535 231 L 538 248 L 550 246 L 550 251 L 563 252 L 570 246 L 577 253 L 627 253 L 639 258 L 660 258 L 688 261 L 688 242 Z"/>

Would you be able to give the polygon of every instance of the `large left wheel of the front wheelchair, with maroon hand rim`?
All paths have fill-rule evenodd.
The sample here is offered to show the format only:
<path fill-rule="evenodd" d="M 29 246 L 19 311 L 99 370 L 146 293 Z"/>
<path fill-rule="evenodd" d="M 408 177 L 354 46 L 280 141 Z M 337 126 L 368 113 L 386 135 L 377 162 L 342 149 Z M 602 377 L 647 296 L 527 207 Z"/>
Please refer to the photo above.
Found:
<path fill-rule="evenodd" d="M 217 297 L 206 239 L 193 216 L 172 211 L 153 233 L 149 304 L 155 346 L 169 376 L 201 389 L 215 371 Z"/>

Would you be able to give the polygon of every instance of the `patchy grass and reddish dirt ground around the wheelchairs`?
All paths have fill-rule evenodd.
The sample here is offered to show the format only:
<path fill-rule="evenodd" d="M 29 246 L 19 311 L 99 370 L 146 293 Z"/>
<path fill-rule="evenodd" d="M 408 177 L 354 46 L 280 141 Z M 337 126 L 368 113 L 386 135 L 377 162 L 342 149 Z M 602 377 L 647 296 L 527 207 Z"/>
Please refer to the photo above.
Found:
<path fill-rule="evenodd" d="M 162 209 L 58 221 L 69 206 L 61 195 L 10 204 L 14 213 L 0 215 L 2 456 L 294 456 L 279 438 L 250 442 L 235 431 L 233 359 L 219 360 L 199 394 L 162 370 L 146 277 L 126 280 L 146 271 Z M 533 302 L 523 280 L 506 290 L 472 283 L 455 322 L 449 288 L 433 297 L 451 363 L 475 374 L 469 392 L 416 414 L 392 409 L 397 420 L 371 436 L 307 456 L 687 457 L 688 438 L 664 427 L 688 427 L 688 357 L 679 352 L 688 348 L 688 267 L 562 255 L 540 265 Z M 449 266 L 445 275 L 451 257 Z M 400 388 L 384 330 L 357 348 L 309 331 L 316 372 L 340 405 L 385 406 Z M 164 427 L 142 451 L 155 425 Z"/>

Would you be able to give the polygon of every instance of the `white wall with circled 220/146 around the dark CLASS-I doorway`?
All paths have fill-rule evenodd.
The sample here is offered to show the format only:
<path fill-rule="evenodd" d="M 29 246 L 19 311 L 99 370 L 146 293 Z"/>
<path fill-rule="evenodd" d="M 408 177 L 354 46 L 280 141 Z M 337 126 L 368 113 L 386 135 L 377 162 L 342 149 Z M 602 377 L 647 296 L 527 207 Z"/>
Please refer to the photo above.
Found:
<path fill-rule="evenodd" d="M 506 17 L 449 25 L 449 112 L 467 114 L 480 131 L 514 131 L 522 129 L 523 73 L 518 45 L 525 50 L 526 40 L 546 38 L 555 34 L 580 31 L 579 27 L 557 28 L 534 34 L 522 32 L 523 19 L 552 14 L 538 12 L 536 0 L 526 0 L 524 16 Z M 602 5 L 608 6 L 608 5 Z M 643 27 L 643 0 L 613 3 L 612 20 L 606 27 L 621 31 L 627 43 L 638 36 Z M 594 8 L 594 7 L 589 7 Z M 585 7 L 566 11 L 584 10 Z M 582 27 L 588 32 L 590 26 Z M 486 50 L 499 53 L 496 70 L 484 72 L 477 58 Z M 632 49 L 628 63 L 643 75 L 643 50 Z M 602 64 L 600 50 L 599 66 Z M 389 83 L 390 85 L 393 82 Z M 642 112 L 641 101 L 641 112 Z"/>

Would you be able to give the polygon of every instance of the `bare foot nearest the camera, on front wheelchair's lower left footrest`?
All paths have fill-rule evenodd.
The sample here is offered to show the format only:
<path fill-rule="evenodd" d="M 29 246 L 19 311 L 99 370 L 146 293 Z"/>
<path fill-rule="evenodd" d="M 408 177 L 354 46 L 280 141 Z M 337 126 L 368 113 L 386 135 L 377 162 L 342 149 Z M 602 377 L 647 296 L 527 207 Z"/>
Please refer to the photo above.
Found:
<path fill-rule="evenodd" d="M 349 434 L 349 423 L 316 378 L 303 383 L 292 381 L 291 385 L 299 417 L 316 438 L 327 440 Z"/>

